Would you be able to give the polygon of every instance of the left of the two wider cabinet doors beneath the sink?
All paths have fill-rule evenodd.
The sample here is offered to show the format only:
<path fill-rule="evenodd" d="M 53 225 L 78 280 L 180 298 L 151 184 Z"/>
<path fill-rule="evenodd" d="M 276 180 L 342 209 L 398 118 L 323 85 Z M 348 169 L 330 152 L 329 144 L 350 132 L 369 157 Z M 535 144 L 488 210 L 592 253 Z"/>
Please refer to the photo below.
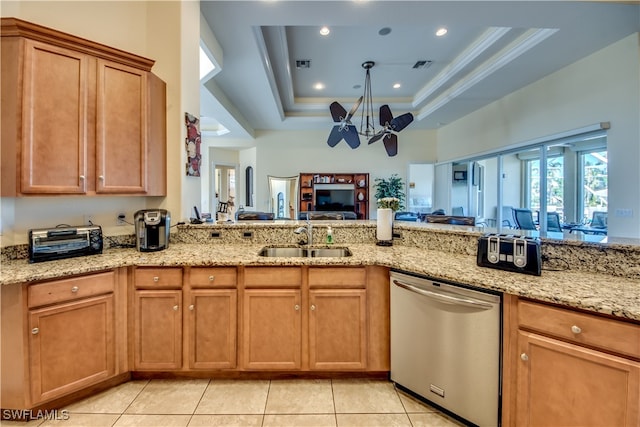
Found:
<path fill-rule="evenodd" d="M 243 309 L 244 367 L 299 369 L 300 290 L 247 289 Z"/>

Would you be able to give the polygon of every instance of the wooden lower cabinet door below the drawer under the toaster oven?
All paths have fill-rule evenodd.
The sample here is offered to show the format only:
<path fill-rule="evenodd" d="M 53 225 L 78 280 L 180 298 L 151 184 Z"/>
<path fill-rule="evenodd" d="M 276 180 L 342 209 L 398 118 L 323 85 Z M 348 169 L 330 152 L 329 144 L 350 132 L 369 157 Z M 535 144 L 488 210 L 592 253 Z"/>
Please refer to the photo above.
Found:
<path fill-rule="evenodd" d="M 113 294 L 29 312 L 34 403 L 115 375 Z"/>

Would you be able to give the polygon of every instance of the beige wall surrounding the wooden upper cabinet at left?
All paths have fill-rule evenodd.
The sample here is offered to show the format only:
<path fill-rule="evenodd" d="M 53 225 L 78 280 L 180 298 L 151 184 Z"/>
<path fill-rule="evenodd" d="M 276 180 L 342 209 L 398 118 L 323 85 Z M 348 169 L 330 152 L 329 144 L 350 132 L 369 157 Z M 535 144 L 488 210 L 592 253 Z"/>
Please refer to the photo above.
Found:
<path fill-rule="evenodd" d="M 0 14 L 54 28 L 156 61 L 152 71 L 167 83 L 167 197 L 23 197 L 3 198 L 1 244 L 26 243 L 31 228 L 78 225 L 92 215 L 105 234 L 129 234 L 116 226 L 120 212 L 129 221 L 138 209 L 162 207 L 172 222 L 182 217 L 184 182 L 184 111 L 199 114 L 198 2 L 178 1 L 2 1 Z M 187 27 L 188 30 L 183 31 Z M 195 38 L 195 45 L 194 45 Z M 185 48 L 187 46 L 188 48 Z M 185 55 L 181 56 L 181 52 Z M 195 78 L 193 77 L 193 73 Z M 191 88 L 191 86 L 194 86 Z M 186 189 L 186 190 L 185 190 Z M 199 194 L 199 186 L 196 193 Z"/>

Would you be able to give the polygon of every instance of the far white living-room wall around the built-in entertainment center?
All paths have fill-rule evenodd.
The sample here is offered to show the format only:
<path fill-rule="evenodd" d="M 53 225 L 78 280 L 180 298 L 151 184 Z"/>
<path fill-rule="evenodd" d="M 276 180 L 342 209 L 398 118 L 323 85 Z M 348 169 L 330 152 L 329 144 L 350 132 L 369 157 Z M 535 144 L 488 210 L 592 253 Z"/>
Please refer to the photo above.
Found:
<path fill-rule="evenodd" d="M 435 132 L 405 129 L 399 135 L 398 154 L 387 156 L 382 141 L 351 149 L 345 142 L 335 147 L 327 145 L 330 125 L 326 131 L 259 131 L 255 141 L 254 168 L 256 209 L 269 209 L 267 176 L 295 176 L 301 172 L 368 172 L 373 185 L 375 178 L 387 178 L 394 173 L 406 184 L 409 163 L 433 162 L 436 154 Z M 224 141 L 222 141 L 224 143 Z M 373 187 L 370 187 L 373 194 Z M 369 215 L 376 205 L 370 201 Z"/>

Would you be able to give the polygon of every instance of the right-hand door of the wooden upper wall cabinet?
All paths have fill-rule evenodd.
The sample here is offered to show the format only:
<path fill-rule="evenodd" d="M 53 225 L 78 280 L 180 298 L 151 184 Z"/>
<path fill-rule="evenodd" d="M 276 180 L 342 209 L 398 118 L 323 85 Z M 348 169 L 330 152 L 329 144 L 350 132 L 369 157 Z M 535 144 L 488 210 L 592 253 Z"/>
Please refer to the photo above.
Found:
<path fill-rule="evenodd" d="M 96 192 L 144 193 L 147 168 L 147 72 L 98 60 Z"/>

